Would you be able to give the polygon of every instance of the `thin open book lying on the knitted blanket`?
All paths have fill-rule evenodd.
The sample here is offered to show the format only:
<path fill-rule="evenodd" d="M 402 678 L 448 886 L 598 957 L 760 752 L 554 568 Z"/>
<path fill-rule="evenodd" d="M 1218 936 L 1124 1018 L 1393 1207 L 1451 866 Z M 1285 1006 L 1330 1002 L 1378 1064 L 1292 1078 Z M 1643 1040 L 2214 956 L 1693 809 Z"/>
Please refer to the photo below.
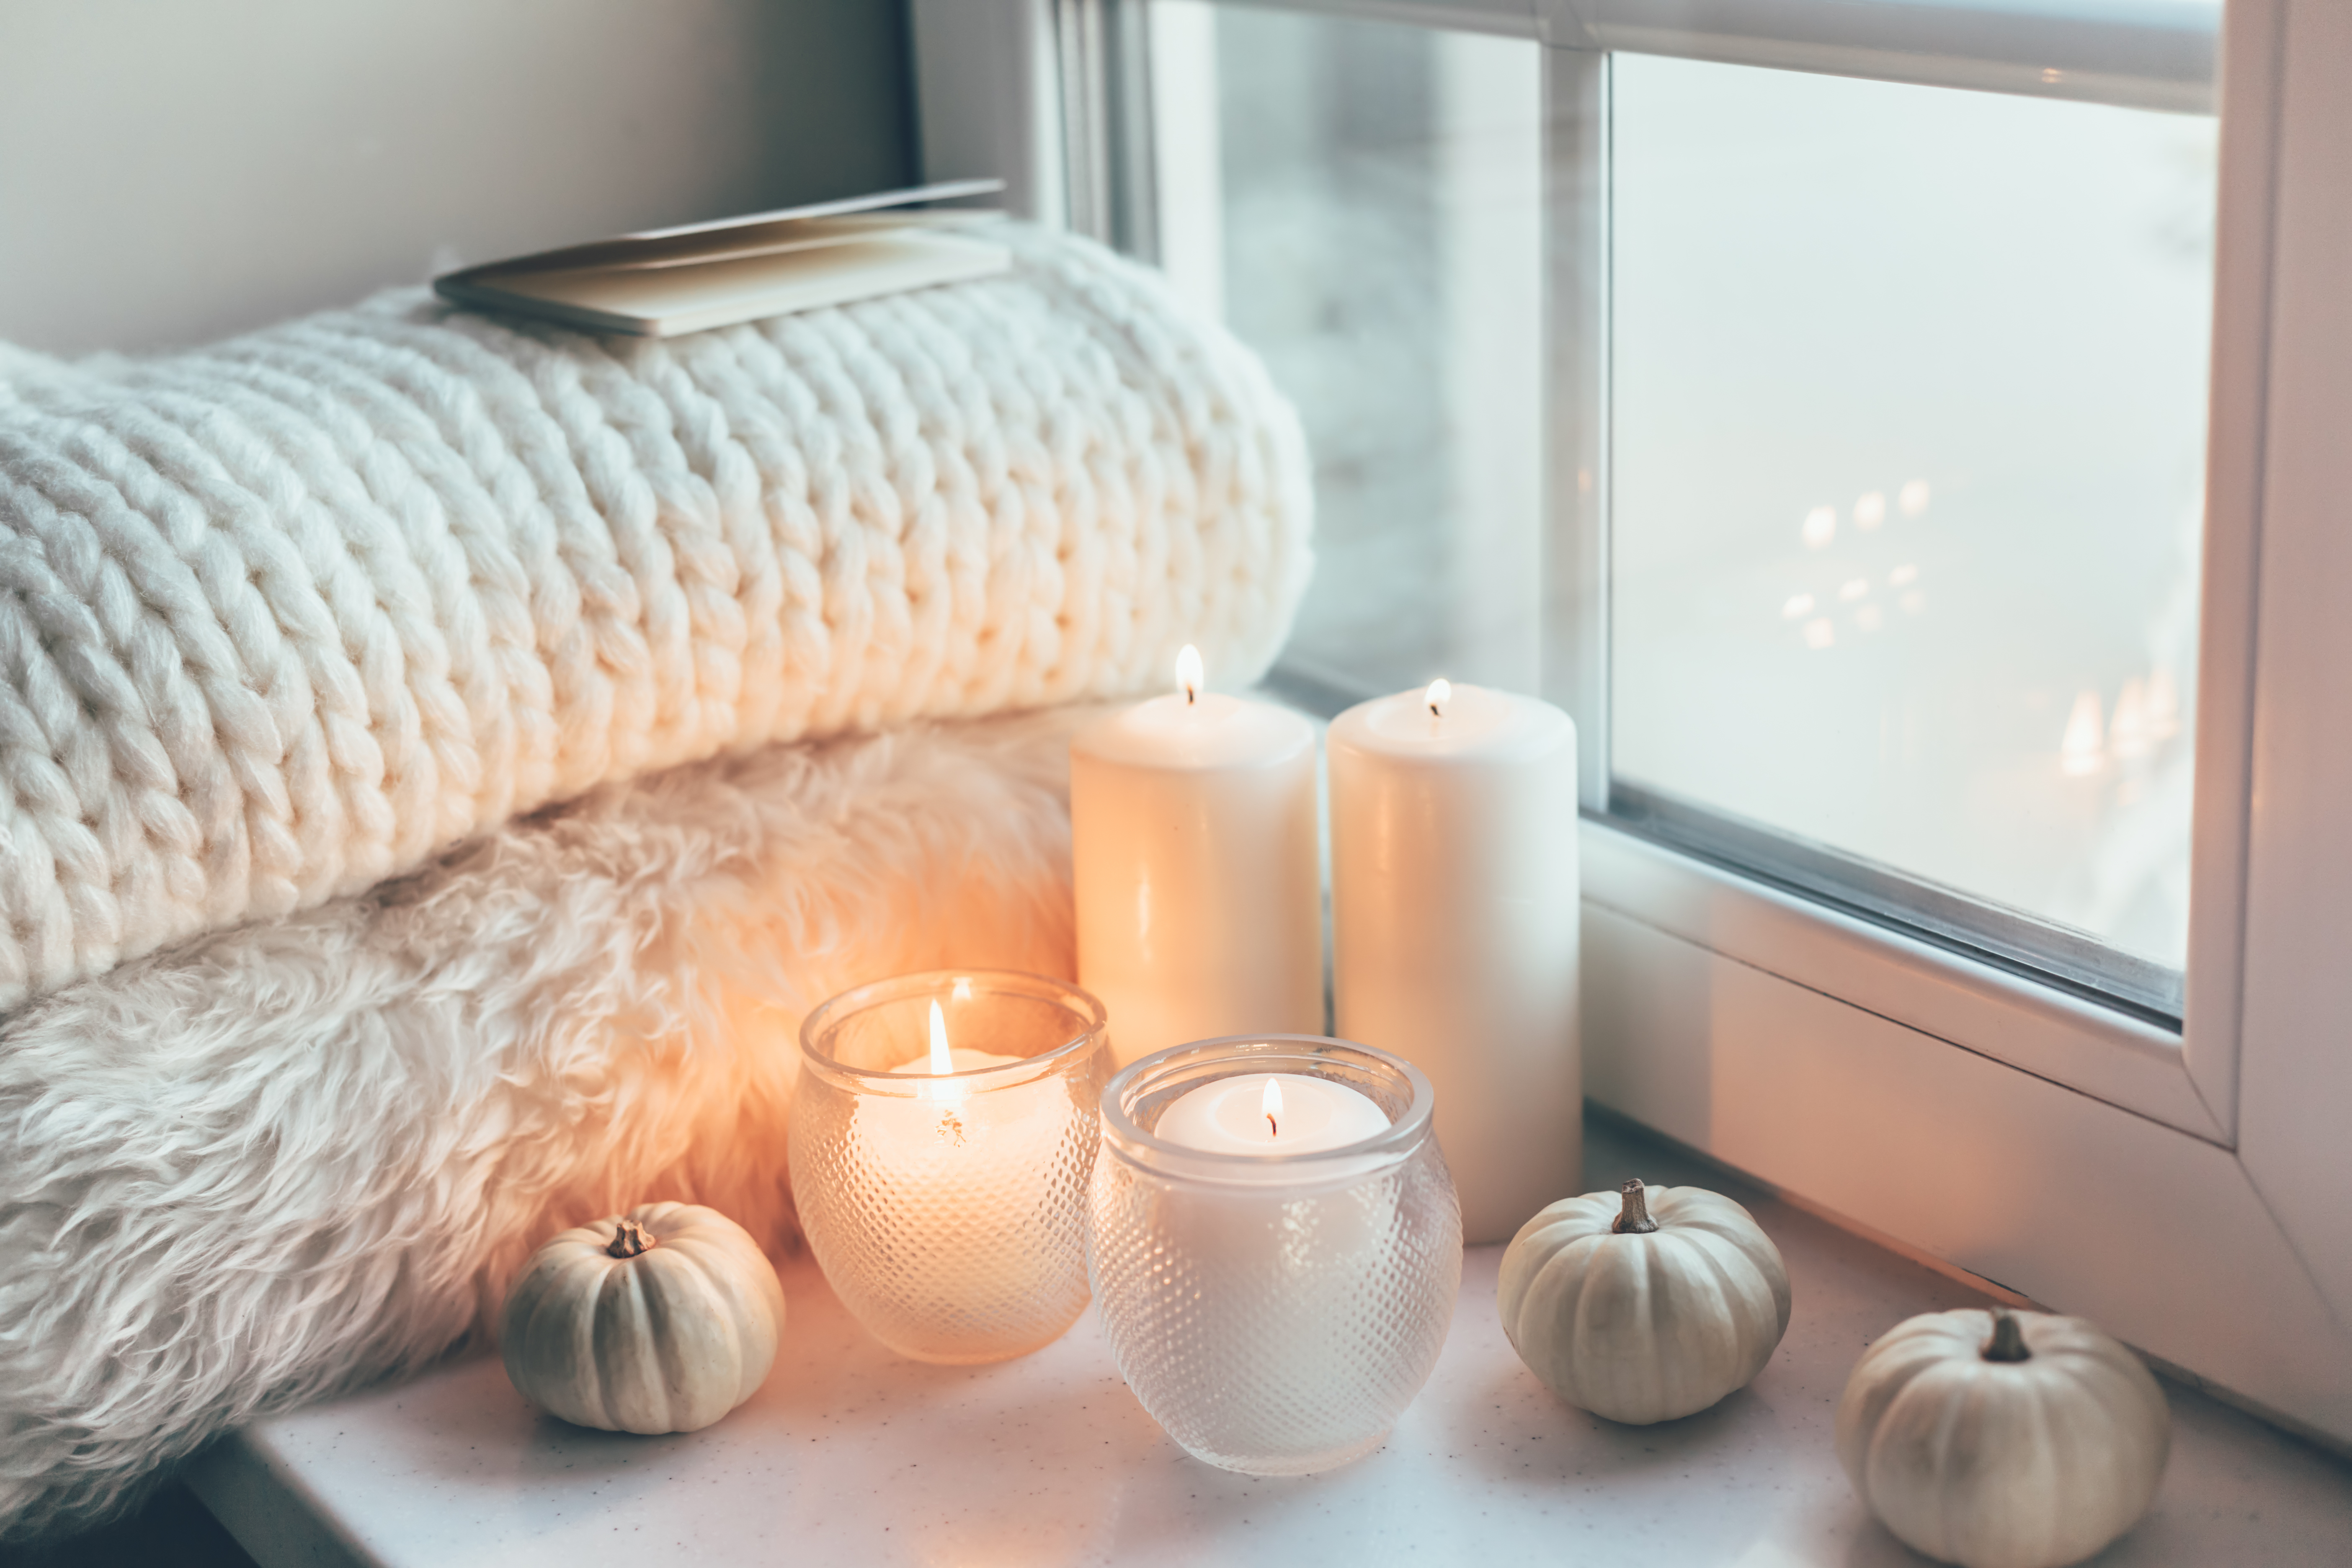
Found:
<path fill-rule="evenodd" d="M 995 214 L 891 212 L 1002 188 L 967 179 L 656 228 L 442 273 L 433 289 L 461 306 L 668 339 L 1002 273 L 1011 252 L 969 233 Z"/>

